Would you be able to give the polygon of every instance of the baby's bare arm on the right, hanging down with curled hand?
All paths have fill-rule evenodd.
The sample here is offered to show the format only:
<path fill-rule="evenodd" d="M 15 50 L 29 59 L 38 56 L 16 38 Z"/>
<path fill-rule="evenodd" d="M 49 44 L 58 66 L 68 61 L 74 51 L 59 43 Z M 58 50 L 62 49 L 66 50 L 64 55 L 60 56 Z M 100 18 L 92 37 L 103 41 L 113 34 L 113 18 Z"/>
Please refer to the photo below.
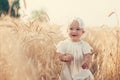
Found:
<path fill-rule="evenodd" d="M 84 60 L 82 63 L 82 68 L 88 69 L 90 63 L 92 62 L 92 55 L 90 53 L 88 53 L 88 54 L 84 54 L 83 57 L 84 57 Z"/>

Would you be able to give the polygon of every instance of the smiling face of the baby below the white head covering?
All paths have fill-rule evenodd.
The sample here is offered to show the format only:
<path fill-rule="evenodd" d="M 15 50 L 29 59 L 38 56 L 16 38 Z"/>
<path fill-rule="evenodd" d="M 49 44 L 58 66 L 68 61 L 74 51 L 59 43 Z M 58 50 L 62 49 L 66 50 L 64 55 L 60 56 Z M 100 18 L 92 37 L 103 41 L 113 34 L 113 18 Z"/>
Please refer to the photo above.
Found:
<path fill-rule="evenodd" d="M 83 34 L 83 32 L 84 32 L 83 29 L 79 27 L 79 23 L 75 20 L 68 27 L 68 35 L 74 42 L 80 40 L 80 37 Z"/>

